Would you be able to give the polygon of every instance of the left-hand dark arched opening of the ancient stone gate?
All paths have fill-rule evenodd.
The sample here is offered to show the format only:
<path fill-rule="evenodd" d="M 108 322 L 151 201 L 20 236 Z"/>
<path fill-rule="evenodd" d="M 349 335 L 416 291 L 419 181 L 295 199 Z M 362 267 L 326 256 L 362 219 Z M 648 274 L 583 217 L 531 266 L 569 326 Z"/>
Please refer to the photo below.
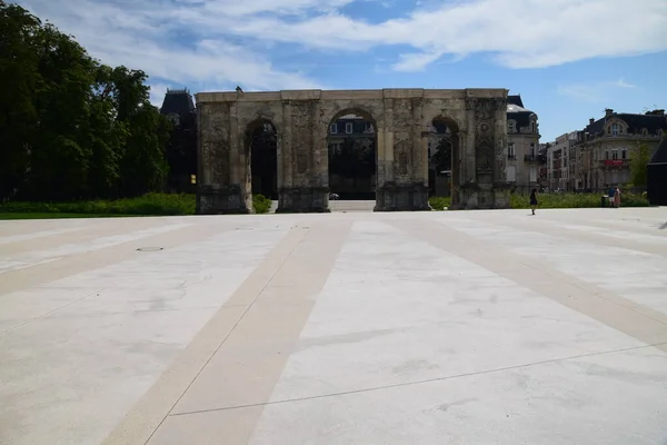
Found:
<path fill-rule="evenodd" d="M 252 195 L 278 199 L 278 132 L 273 122 L 258 119 L 246 129 Z"/>

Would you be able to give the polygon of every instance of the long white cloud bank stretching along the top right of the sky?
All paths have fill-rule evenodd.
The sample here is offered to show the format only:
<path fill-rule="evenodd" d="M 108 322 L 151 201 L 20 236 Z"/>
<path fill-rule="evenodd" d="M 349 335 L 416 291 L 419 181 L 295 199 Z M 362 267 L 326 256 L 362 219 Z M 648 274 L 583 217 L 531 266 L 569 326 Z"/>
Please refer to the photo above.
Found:
<path fill-rule="evenodd" d="M 366 50 L 407 44 L 397 69 L 424 68 L 434 55 L 491 52 L 509 68 L 542 68 L 594 57 L 667 50 L 667 2 L 641 0 L 467 0 L 429 2 L 407 18 L 381 23 L 336 12 L 300 21 L 266 17 L 232 23 L 229 32 L 313 48 Z M 422 8 L 419 7 L 418 8 Z M 408 60 L 408 62 L 404 62 Z"/>

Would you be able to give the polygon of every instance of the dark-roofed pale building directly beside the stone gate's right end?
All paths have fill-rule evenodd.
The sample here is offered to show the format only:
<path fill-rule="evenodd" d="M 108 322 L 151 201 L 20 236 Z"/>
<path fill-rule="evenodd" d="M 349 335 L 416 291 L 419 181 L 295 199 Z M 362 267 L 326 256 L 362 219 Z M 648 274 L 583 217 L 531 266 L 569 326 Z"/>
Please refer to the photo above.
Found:
<path fill-rule="evenodd" d="M 521 96 L 507 98 L 507 180 L 519 191 L 539 187 L 547 157 L 540 150 L 537 113 L 525 108 Z"/>

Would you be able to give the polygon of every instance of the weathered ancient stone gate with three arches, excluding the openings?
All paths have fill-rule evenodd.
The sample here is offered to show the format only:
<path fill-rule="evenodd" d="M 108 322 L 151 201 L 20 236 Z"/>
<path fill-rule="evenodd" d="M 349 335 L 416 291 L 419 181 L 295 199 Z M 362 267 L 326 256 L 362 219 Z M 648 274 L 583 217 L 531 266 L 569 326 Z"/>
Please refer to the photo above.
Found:
<path fill-rule="evenodd" d="M 452 207 L 506 208 L 505 89 L 296 90 L 198 93 L 199 214 L 252 209 L 249 128 L 278 132 L 278 211 L 328 211 L 327 137 L 356 113 L 377 131 L 376 211 L 429 210 L 428 136 L 434 119 L 455 134 Z"/>

